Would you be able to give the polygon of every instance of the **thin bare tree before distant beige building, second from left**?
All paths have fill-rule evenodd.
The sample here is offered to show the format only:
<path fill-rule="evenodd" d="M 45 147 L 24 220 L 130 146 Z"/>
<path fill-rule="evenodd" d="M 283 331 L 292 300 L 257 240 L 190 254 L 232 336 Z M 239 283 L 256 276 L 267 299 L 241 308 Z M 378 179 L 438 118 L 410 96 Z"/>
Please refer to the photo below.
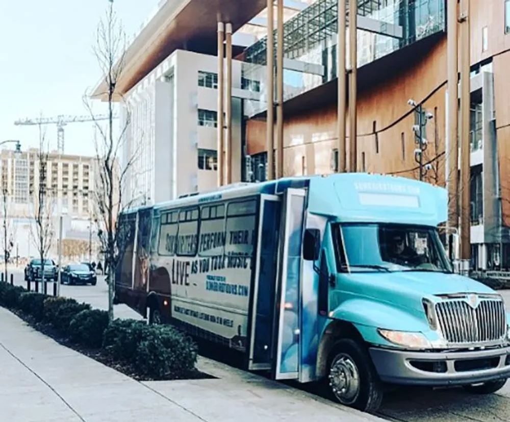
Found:
<path fill-rule="evenodd" d="M 49 154 L 47 152 L 48 144 L 45 135 L 45 130 L 43 131 L 41 125 L 39 125 L 39 150 L 36 158 L 36 162 L 39 165 L 39 181 L 35 186 L 35 192 L 30 192 L 34 212 L 34 224 L 30 226 L 30 234 L 37 246 L 41 260 L 41 282 L 44 292 L 47 290 L 46 280 L 44 279 L 44 263 L 52 247 L 55 235 L 53 227 L 54 198 L 48 192 L 46 180 Z M 37 193 L 37 198 L 34 198 L 34 193 Z"/>

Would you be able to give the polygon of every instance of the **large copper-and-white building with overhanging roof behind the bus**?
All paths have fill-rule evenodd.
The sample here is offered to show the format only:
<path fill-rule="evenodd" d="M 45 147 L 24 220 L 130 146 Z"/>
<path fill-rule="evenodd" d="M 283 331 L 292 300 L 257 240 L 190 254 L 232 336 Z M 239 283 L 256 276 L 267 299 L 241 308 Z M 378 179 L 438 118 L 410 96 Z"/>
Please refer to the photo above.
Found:
<path fill-rule="evenodd" d="M 150 192 L 152 201 L 215 185 L 215 170 L 198 168 L 198 151 L 209 147 L 214 150 L 213 132 L 206 135 L 198 131 L 201 129 L 198 110 L 217 113 L 215 99 L 207 96 L 207 88 L 198 87 L 198 72 L 217 72 L 218 63 L 222 61 L 218 56 L 218 20 L 232 24 L 233 39 L 241 37 L 238 34 L 244 34 L 245 40 L 246 34 L 253 36 L 248 47 L 232 43 L 232 55 L 237 59 L 232 64 L 232 124 L 236 128 L 232 135 L 232 150 L 236 151 L 232 181 L 266 178 L 266 135 L 271 132 L 268 132 L 267 119 L 270 86 L 266 68 L 267 37 L 263 36 L 267 4 L 266 0 L 213 2 L 207 13 L 203 13 L 203 3 L 197 0 L 167 1 L 131 44 L 126 71 L 117 85 L 119 91 L 134 95 L 142 90 L 140 86 L 149 85 L 152 76 L 148 75 L 154 75 L 154 83 L 162 87 L 161 93 L 167 90 L 167 94 L 160 97 L 160 103 L 167 104 L 160 109 L 156 88 L 152 113 L 156 122 L 152 145 L 158 145 L 158 133 L 163 134 L 161 146 L 150 146 L 153 149 L 148 153 L 154 157 L 154 166 L 145 165 L 152 173 L 144 182 L 143 191 Z M 329 173 L 338 166 L 338 2 L 285 2 L 289 9 L 291 4 L 299 6 L 288 12 L 283 23 L 283 102 L 276 104 L 276 108 L 283 109 L 284 116 L 282 173 L 285 176 Z M 178 5 L 183 6 L 179 11 Z M 418 178 L 421 172 L 425 173 L 424 180 L 442 186 L 456 170 L 448 164 L 446 6 L 445 0 L 358 0 L 356 170 L 412 178 Z M 260 27 L 258 22 L 261 22 Z M 471 267 L 508 268 L 510 108 L 506 106 L 506 96 L 510 85 L 505 69 L 510 64 L 510 2 L 471 2 L 469 22 L 470 136 L 460 141 L 469 142 L 471 148 Z M 347 39 L 348 33 L 349 29 Z M 275 58 L 276 38 L 274 34 Z M 348 45 L 346 53 L 348 58 Z M 173 88 L 173 96 L 170 96 L 168 86 L 176 84 L 176 80 L 161 80 L 161 76 L 167 76 L 166 70 L 157 69 L 165 66 L 170 69 L 170 64 L 165 63 L 179 68 L 180 59 L 185 57 L 182 60 L 191 66 L 186 77 L 187 87 Z M 274 60 L 274 65 L 276 63 Z M 175 78 L 175 73 L 173 75 Z M 205 78 L 204 81 L 214 84 L 214 75 Z M 241 90 L 236 91 L 236 88 Z M 172 106 L 168 105 L 169 96 Z M 419 113 L 417 108 L 410 107 L 409 100 L 432 117 L 422 133 L 427 149 L 423 152 L 421 168 L 416 161 L 416 136 L 412 129 Z M 225 98 L 227 101 L 230 98 Z M 162 128 L 158 126 L 158 116 L 164 127 L 171 107 L 175 110 L 172 109 L 169 127 L 158 132 L 157 128 Z M 183 115 L 182 123 L 176 117 L 179 113 Z M 346 114 L 350 114 L 348 109 Z M 197 124 L 196 132 L 192 128 L 193 121 Z M 175 131 L 179 127 L 183 131 L 177 134 Z M 349 133 L 348 121 L 346 127 Z M 173 137 L 165 135 L 171 132 Z M 172 156 L 174 146 L 169 145 L 177 145 L 176 155 Z M 240 160 L 236 161 L 238 151 Z M 170 163 L 170 166 L 165 168 L 156 160 Z M 210 162 L 213 163 L 214 158 Z M 185 168 L 184 163 L 192 164 L 181 171 L 179 168 Z M 199 170 L 203 170 L 203 178 Z M 143 168 L 140 171 L 143 173 Z"/>

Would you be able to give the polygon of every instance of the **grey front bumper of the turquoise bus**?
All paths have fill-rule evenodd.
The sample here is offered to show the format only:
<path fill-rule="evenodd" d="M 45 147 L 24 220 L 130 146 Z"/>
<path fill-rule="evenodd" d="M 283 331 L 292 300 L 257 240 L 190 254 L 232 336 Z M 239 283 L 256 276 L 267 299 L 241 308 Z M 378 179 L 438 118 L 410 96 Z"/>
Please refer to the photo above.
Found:
<path fill-rule="evenodd" d="M 466 352 L 419 352 L 370 347 L 379 378 L 392 384 L 448 386 L 510 378 L 510 346 Z"/>

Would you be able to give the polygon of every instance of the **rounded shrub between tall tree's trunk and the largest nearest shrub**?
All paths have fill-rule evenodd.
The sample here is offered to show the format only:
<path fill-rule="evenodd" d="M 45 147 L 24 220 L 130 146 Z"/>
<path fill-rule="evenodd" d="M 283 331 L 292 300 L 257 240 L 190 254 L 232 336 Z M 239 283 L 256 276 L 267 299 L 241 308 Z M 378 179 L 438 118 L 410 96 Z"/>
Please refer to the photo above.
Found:
<path fill-rule="evenodd" d="M 145 321 L 115 319 L 105 330 L 103 349 L 116 360 L 131 362 L 134 359 Z"/>

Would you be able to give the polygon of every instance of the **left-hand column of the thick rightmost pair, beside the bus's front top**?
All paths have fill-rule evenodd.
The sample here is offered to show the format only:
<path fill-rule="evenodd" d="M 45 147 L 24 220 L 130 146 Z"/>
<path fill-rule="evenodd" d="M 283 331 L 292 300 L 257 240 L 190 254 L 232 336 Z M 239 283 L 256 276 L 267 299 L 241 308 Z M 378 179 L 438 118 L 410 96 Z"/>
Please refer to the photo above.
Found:
<path fill-rule="evenodd" d="M 458 227 L 458 35 L 457 2 L 448 2 L 448 227 Z"/>

